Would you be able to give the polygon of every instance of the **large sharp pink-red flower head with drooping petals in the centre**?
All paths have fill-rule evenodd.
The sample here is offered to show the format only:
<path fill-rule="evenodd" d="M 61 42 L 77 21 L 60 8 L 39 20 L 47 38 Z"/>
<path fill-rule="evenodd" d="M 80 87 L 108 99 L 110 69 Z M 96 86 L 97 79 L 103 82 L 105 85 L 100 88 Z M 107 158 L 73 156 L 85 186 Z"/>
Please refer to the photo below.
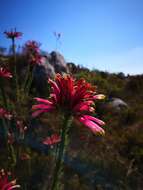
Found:
<path fill-rule="evenodd" d="M 56 75 L 55 81 L 49 79 L 49 84 L 51 86 L 50 97 L 48 100 L 35 98 L 38 104 L 32 107 L 33 117 L 60 109 L 64 113 L 73 115 L 93 133 L 104 133 L 100 126 L 105 123 L 88 115 L 94 112 L 94 100 L 98 99 L 93 86 L 83 79 L 76 81 L 71 76 L 60 74 Z"/>

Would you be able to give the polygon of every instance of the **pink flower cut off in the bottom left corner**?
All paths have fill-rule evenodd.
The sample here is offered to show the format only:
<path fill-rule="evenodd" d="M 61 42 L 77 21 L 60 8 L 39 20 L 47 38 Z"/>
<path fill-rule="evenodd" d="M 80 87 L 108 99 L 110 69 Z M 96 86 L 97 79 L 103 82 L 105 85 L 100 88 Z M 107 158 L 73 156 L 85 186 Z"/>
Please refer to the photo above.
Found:
<path fill-rule="evenodd" d="M 5 172 L 3 169 L 0 171 L 0 189 L 11 190 L 20 188 L 20 185 L 16 184 L 16 180 L 11 179 L 11 173 Z"/>

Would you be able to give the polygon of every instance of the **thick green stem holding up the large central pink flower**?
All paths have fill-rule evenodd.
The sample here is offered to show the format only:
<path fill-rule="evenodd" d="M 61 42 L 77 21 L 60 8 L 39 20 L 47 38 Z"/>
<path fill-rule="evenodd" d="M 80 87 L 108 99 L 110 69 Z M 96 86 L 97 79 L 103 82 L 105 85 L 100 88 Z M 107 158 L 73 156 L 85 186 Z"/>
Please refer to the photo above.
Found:
<path fill-rule="evenodd" d="M 68 131 L 69 131 L 69 127 L 71 125 L 70 121 L 71 121 L 70 116 L 65 116 L 65 118 L 63 120 L 63 127 L 62 127 L 62 131 L 61 131 L 61 143 L 59 145 L 57 161 L 56 161 L 56 166 L 55 166 L 55 171 L 54 171 L 54 179 L 53 179 L 51 190 L 57 190 L 57 186 L 59 183 L 59 177 L 61 177 L 60 174 L 61 174 L 61 170 L 62 170 L 62 162 L 63 162 L 65 149 L 67 146 Z"/>

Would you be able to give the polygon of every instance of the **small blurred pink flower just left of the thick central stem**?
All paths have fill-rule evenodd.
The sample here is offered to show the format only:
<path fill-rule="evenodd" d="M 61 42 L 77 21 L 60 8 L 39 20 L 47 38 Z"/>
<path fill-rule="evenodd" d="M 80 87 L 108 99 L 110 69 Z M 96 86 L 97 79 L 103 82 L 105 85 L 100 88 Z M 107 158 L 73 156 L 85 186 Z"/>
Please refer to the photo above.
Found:
<path fill-rule="evenodd" d="M 45 145 L 54 145 L 61 141 L 61 138 L 58 134 L 53 134 L 50 137 L 44 139 L 43 144 Z"/>

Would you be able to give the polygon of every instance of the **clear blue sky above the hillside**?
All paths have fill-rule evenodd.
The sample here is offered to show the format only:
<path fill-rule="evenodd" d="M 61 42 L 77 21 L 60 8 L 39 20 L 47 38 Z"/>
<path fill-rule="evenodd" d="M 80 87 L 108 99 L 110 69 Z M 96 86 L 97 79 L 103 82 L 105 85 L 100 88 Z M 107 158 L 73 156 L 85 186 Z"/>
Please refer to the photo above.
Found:
<path fill-rule="evenodd" d="M 24 33 L 17 43 L 33 39 L 48 52 L 61 32 L 67 61 L 89 68 L 143 73 L 143 0 L 0 0 L 0 46 L 3 31 Z"/>

